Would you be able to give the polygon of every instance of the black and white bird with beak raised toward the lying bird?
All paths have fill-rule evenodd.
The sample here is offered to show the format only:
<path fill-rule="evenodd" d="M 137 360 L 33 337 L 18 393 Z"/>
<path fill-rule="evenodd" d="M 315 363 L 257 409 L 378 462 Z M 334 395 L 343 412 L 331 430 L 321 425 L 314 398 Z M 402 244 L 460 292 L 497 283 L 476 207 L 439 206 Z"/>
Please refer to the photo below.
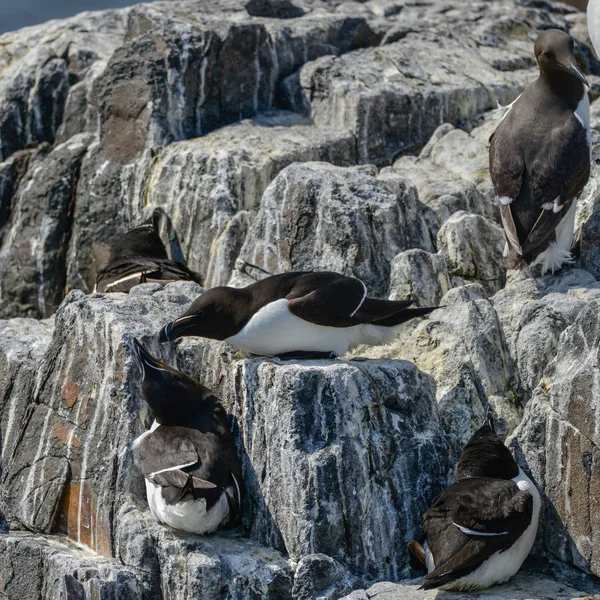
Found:
<path fill-rule="evenodd" d="M 148 505 L 160 523 L 212 533 L 240 515 L 241 469 L 227 415 L 210 390 L 130 345 L 155 421 L 133 443 Z"/>

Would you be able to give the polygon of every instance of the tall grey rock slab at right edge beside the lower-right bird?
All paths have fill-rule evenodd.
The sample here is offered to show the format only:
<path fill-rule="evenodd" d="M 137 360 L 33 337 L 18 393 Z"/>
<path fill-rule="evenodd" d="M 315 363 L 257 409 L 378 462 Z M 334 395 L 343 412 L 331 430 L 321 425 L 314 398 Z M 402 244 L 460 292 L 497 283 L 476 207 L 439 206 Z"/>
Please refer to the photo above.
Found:
<path fill-rule="evenodd" d="M 513 440 L 545 494 L 544 549 L 596 575 L 598 308 L 588 302 L 564 330 Z"/>

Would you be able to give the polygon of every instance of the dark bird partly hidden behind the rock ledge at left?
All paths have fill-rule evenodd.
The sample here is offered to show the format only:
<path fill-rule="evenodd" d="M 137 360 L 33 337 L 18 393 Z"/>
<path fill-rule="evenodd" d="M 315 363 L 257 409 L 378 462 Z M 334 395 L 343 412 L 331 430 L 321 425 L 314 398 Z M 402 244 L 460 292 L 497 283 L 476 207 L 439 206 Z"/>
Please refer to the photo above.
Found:
<path fill-rule="evenodd" d="M 108 264 L 96 278 L 95 292 L 129 292 L 146 282 L 172 281 L 201 283 L 200 275 L 181 261 L 169 259 L 159 235 L 163 210 L 155 209 L 152 220 L 130 229 L 111 248 Z M 183 259 L 183 257 L 181 257 Z"/>

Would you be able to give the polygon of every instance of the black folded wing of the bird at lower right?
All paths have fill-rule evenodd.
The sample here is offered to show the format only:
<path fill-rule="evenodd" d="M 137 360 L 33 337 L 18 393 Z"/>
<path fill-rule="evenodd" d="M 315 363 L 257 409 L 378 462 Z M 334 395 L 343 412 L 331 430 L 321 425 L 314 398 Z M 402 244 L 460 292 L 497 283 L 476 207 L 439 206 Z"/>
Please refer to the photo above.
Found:
<path fill-rule="evenodd" d="M 510 480 L 471 477 L 446 488 L 423 516 L 436 565 L 425 589 L 474 571 L 510 548 L 531 523 L 533 496 Z"/>

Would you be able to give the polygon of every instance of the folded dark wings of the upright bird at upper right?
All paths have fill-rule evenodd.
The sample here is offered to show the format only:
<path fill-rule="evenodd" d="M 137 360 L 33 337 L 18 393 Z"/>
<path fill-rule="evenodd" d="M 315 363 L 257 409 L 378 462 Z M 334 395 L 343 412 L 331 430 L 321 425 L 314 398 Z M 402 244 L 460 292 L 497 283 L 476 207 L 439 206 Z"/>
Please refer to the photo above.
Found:
<path fill-rule="evenodd" d="M 589 179 L 590 154 L 586 130 L 572 113 L 560 126 L 535 128 L 535 143 L 524 150 L 518 108 L 491 137 L 490 175 L 508 242 L 517 255 L 527 257 L 552 240 L 581 194 Z M 503 198 L 511 202 L 503 203 Z"/>

